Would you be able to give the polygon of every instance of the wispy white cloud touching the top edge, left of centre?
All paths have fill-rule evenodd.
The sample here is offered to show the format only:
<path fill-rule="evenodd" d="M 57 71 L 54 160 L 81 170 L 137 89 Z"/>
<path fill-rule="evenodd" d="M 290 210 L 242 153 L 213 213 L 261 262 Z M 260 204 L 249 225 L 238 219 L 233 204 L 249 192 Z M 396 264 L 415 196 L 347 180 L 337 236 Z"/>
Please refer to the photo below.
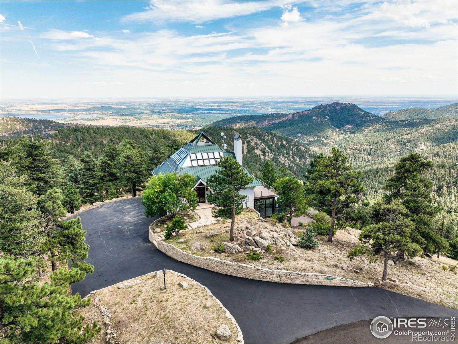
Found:
<path fill-rule="evenodd" d="M 281 1 L 153 0 L 146 11 L 132 13 L 124 17 L 124 20 L 202 23 L 266 11 L 282 3 Z"/>

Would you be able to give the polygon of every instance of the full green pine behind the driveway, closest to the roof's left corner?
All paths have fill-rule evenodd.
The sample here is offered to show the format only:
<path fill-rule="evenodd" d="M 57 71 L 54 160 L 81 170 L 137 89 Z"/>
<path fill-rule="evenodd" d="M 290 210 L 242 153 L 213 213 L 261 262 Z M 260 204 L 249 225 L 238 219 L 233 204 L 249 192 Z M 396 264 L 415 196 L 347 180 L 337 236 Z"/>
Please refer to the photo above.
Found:
<path fill-rule="evenodd" d="M 125 140 L 119 147 L 120 155 L 116 160 L 119 179 L 123 186 L 131 189 L 131 195 L 137 195 L 137 188 L 147 178 L 146 158 L 142 147 L 134 141 Z"/>

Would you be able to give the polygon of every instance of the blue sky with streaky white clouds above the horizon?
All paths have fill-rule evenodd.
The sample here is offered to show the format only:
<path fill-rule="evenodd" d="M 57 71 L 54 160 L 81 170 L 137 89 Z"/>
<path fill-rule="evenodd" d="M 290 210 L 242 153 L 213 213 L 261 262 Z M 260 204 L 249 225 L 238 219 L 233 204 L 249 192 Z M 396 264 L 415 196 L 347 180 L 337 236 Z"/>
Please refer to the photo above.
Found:
<path fill-rule="evenodd" d="M 0 98 L 458 94 L 457 1 L 0 1 Z"/>

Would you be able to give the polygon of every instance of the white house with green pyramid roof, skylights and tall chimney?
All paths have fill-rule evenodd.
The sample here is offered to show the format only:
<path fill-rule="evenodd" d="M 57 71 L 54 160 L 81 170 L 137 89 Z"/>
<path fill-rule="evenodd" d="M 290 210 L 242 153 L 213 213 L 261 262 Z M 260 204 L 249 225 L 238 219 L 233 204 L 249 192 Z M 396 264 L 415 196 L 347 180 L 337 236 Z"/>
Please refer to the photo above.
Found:
<path fill-rule="evenodd" d="M 198 203 L 206 203 L 209 193 L 206 184 L 207 178 L 218 170 L 216 163 L 225 156 L 232 156 L 243 166 L 243 142 L 240 135 L 234 136 L 234 151 L 228 152 L 214 143 L 207 135 L 200 133 L 157 166 L 153 170 L 153 174 L 157 176 L 159 173 L 174 172 L 195 176 L 194 190 L 196 190 L 199 199 Z M 262 217 L 271 216 L 275 209 L 276 194 L 273 190 L 267 189 L 264 183 L 245 168 L 244 170 L 253 177 L 253 182 L 248 184 L 245 189 L 240 190 L 240 194 L 247 196 L 244 207 L 256 209 Z"/>

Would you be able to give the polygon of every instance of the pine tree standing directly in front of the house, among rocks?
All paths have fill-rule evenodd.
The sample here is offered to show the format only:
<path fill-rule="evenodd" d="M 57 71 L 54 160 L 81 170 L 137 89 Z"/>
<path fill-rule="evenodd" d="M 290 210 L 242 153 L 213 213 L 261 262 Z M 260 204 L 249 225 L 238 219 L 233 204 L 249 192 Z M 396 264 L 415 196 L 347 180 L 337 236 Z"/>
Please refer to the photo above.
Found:
<path fill-rule="evenodd" d="M 207 178 L 207 187 L 211 190 L 207 200 L 218 206 L 217 216 L 231 218 L 230 241 L 234 241 L 235 215 L 242 212 L 246 198 L 239 191 L 252 183 L 253 177 L 232 156 L 222 158 L 217 165 L 216 173 Z"/>

